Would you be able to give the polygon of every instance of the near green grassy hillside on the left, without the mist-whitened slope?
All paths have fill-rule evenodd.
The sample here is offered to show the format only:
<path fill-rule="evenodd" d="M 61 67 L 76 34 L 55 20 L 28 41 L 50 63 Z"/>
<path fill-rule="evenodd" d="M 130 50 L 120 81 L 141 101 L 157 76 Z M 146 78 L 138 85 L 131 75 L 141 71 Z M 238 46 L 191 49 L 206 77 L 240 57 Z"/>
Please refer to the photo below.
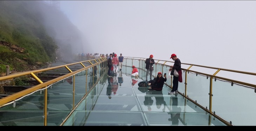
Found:
<path fill-rule="evenodd" d="M 40 2 L 0 1 L 0 73 L 6 65 L 24 71 L 56 57 L 58 46 L 35 8 Z"/>

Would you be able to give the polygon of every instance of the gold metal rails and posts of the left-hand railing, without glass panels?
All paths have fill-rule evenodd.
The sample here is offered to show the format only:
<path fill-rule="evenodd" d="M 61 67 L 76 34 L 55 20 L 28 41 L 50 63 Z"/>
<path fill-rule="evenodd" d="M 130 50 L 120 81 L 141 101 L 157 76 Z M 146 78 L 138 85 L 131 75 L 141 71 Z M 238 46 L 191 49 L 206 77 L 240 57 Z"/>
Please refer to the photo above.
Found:
<path fill-rule="evenodd" d="M 93 62 L 92 62 L 93 61 Z M 45 94 L 44 94 L 44 125 L 46 126 L 47 125 L 47 87 L 49 87 L 49 85 L 55 83 L 55 82 L 58 82 L 58 81 L 61 81 L 69 76 L 74 76 L 73 77 L 73 109 L 75 109 L 75 103 L 74 103 L 74 93 L 75 93 L 75 74 L 83 71 L 83 70 L 87 70 L 88 68 L 90 67 L 94 67 L 94 66 L 99 66 L 99 64 L 101 64 L 102 62 L 105 62 L 106 61 L 106 58 L 96 58 L 96 59 L 93 59 L 93 60 L 87 60 L 87 61 L 81 61 L 81 62 L 76 62 L 76 63 L 71 63 L 71 64 L 66 64 L 66 65 L 61 65 L 61 66 L 56 66 L 56 67 L 50 67 L 50 68 L 45 68 L 45 69 L 40 69 L 40 70 L 32 70 L 32 71 L 26 71 L 26 72 L 23 72 L 23 73 L 19 73 L 19 74 L 13 74 L 13 75 L 8 75 L 8 76 L 2 76 L 0 77 L 0 81 L 3 81 L 3 80 L 9 80 L 9 79 L 13 79 L 13 78 L 16 78 L 16 77 L 20 77 L 20 76 L 26 76 L 26 75 L 31 75 L 36 81 L 38 81 L 40 84 L 38 85 L 35 85 L 34 87 L 31 87 L 31 88 L 28 88 L 28 89 L 25 89 L 25 90 L 22 90 L 20 92 L 17 92 L 15 94 L 12 94 L 12 95 L 9 95 L 7 97 L 4 97 L 4 98 L 1 98 L 0 99 L 0 107 L 2 106 L 6 106 L 8 104 L 12 104 L 12 103 L 15 103 L 15 101 L 18 101 L 19 99 L 21 99 L 22 97 L 25 97 L 29 94 L 33 94 L 33 92 L 36 92 L 36 91 L 39 91 L 39 90 L 45 90 Z M 85 66 L 83 63 L 90 63 L 91 65 L 90 66 Z M 94 64 L 93 64 L 94 63 Z M 76 64 L 81 64 L 82 65 L 82 68 L 81 69 L 78 69 L 78 70 L 75 70 L 75 71 L 72 71 L 69 69 L 69 66 L 72 66 L 72 65 L 76 65 Z M 53 80 L 49 80 L 47 82 L 42 82 L 40 80 L 40 78 L 38 78 L 35 74 L 36 73 L 41 73 L 43 71 L 49 71 L 49 70 L 54 70 L 54 69 L 59 69 L 59 68 L 62 68 L 62 67 L 65 67 L 70 73 L 66 74 L 66 75 L 63 75 L 63 76 L 59 76 L 57 78 L 54 78 Z M 86 72 L 87 73 L 87 72 Z M 87 74 L 86 74 L 87 75 Z M 86 79 L 87 81 L 87 79 Z M 87 88 L 86 88 L 87 89 Z M 87 91 L 86 91 L 87 92 Z M 87 92 L 88 93 L 88 92 Z M 87 95 L 87 94 L 86 94 Z M 85 95 L 85 96 L 86 96 Z M 85 97 L 84 96 L 84 97 Z"/>

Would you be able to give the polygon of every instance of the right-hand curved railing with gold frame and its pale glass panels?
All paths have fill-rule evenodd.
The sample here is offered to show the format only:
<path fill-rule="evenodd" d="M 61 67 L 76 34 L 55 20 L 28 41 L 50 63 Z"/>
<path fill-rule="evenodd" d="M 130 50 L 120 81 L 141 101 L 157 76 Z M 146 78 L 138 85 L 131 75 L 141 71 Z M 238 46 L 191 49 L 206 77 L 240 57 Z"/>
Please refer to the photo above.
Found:
<path fill-rule="evenodd" d="M 123 65 L 139 68 L 141 70 L 139 71 L 139 77 L 145 78 L 145 61 L 146 58 L 124 57 Z M 168 78 L 165 84 L 167 87 L 172 88 L 172 76 L 169 68 L 174 64 L 174 61 L 155 60 L 155 63 L 154 76 L 157 76 L 159 71 L 167 73 Z M 256 116 L 256 113 L 254 113 L 256 106 L 249 101 L 253 101 L 256 98 L 256 85 L 221 77 L 221 75 L 217 76 L 217 74 L 233 73 L 229 77 L 237 76 L 240 78 L 251 75 L 256 76 L 256 73 L 187 63 L 182 63 L 181 67 L 183 82 L 179 82 L 179 94 L 227 125 L 255 125 L 252 119 L 254 117 L 252 116 Z M 212 74 L 201 72 L 206 69 L 209 70 L 208 72 L 211 71 Z M 238 96 L 242 96 L 242 98 Z"/>

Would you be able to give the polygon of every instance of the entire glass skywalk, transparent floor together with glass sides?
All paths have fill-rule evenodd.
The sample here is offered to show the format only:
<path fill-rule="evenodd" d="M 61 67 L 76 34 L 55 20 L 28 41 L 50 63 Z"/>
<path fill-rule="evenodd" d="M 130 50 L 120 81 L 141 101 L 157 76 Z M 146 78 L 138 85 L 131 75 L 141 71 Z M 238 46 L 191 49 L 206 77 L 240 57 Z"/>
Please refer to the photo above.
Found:
<path fill-rule="evenodd" d="M 255 125 L 252 119 L 256 116 L 256 107 L 250 102 L 255 99 L 255 85 L 218 77 L 215 76 L 216 73 L 209 75 L 193 71 L 190 65 L 187 68 L 182 64 L 183 82 L 179 83 L 178 94 L 168 95 L 172 87 L 172 76 L 169 75 L 167 65 L 173 63 L 155 60 L 158 64 L 153 75 L 156 76 L 161 71 L 167 73 L 168 80 L 162 91 L 149 91 L 146 87 L 138 86 L 146 76 L 144 60 L 146 59 L 125 58 L 122 71 L 113 77 L 107 76 L 105 59 L 83 63 L 86 69 L 76 63 L 43 73 L 40 71 L 41 75 L 55 72 L 63 72 L 65 75 L 1 98 L 0 125 Z M 77 61 L 70 63 L 74 62 Z M 51 67 L 65 64 L 67 62 L 58 61 Z M 133 65 L 139 69 L 139 78 L 130 76 Z M 96 73 L 93 70 L 95 66 Z M 39 71 L 36 73 L 39 75 Z M 26 75 L 31 74 L 34 73 Z M 6 79 L 0 77 L 0 80 Z M 239 90 L 244 92 L 239 94 L 240 97 L 230 93 Z"/>

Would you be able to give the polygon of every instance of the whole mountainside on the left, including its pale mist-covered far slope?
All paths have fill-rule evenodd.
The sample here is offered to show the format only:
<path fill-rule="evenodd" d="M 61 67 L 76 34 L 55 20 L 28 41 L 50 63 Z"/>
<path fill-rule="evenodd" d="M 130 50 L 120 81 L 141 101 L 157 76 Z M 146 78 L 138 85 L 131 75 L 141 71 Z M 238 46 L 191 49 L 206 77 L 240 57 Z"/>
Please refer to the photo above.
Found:
<path fill-rule="evenodd" d="M 58 1 L 0 1 L 0 72 L 84 52 L 81 38 Z"/>

